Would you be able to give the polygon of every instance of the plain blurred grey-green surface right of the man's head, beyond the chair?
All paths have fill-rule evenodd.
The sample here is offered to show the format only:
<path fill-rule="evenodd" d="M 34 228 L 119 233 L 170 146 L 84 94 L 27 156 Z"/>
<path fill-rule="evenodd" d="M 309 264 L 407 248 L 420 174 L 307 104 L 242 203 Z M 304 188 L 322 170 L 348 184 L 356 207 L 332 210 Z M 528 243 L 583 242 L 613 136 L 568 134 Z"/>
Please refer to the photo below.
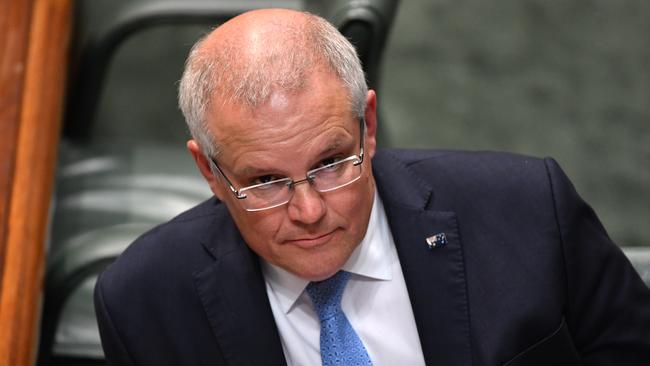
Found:
<path fill-rule="evenodd" d="M 650 245 L 650 2 L 402 1 L 391 145 L 556 158 L 620 245 Z"/>

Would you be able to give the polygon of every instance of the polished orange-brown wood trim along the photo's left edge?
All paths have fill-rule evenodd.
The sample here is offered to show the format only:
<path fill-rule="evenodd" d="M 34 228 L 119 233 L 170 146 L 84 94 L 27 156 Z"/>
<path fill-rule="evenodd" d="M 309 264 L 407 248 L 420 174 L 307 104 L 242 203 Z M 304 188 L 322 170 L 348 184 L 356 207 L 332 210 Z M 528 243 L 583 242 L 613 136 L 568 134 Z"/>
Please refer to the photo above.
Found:
<path fill-rule="evenodd" d="M 63 114 L 72 0 L 2 2 L 6 3 L 3 11 L 9 9 L 8 17 L 16 19 L 8 19 L 6 25 L 14 33 L 0 43 L 3 54 L 13 53 L 9 65 L 2 58 L 0 96 L 14 95 L 7 102 L 8 110 L 19 108 L 19 112 L 2 112 L 10 136 L 0 140 L 9 142 L 3 148 L 7 155 L 0 156 L 0 197 L 10 200 L 3 204 L 4 213 L 0 211 L 0 365 L 20 366 L 33 365 L 37 349 L 44 241 Z M 0 31 L 4 27 L 0 24 Z M 20 74 L 9 78 L 15 86 L 5 83 L 7 68 Z"/>

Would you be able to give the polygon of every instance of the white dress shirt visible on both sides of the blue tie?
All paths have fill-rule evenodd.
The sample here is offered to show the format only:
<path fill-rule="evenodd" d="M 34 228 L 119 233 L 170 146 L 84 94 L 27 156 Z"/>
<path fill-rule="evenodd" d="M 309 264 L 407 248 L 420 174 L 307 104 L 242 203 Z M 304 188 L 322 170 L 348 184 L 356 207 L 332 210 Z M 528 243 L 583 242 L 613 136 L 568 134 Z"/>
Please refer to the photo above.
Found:
<path fill-rule="evenodd" d="M 320 365 L 320 323 L 304 291 L 309 281 L 262 263 L 287 364 Z M 366 235 L 343 269 L 352 275 L 341 307 L 373 364 L 424 365 L 402 268 L 376 193 Z"/>

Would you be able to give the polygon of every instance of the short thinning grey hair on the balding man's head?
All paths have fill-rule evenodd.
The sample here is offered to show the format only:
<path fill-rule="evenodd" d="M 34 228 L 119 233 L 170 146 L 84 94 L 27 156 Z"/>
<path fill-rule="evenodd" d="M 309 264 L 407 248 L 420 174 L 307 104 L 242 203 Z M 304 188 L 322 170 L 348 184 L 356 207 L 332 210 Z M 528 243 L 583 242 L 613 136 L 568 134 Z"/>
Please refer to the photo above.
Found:
<path fill-rule="evenodd" d="M 219 154 L 218 139 L 207 127 L 207 111 L 215 96 L 221 103 L 254 109 L 276 90 L 302 90 L 310 70 L 317 66 L 334 71 L 348 92 L 353 113 L 363 117 L 368 86 L 354 46 L 325 19 L 305 14 L 304 28 L 287 29 L 282 35 L 290 43 L 265 45 L 247 55 L 248 62 L 239 61 L 243 51 L 236 44 L 210 49 L 205 44 L 208 36 L 192 47 L 178 100 L 192 138 L 207 157 Z"/>

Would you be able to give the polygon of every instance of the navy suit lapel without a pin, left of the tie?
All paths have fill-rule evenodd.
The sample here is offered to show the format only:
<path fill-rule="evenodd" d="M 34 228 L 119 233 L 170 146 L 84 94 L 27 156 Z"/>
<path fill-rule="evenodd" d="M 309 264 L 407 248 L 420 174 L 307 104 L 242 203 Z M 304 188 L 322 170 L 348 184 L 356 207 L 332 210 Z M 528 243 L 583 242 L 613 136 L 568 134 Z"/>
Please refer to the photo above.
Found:
<path fill-rule="evenodd" d="M 231 365 L 285 365 L 257 257 L 224 206 L 204 247 L 215 261 L 194 282 L 218 347 Z"/>

